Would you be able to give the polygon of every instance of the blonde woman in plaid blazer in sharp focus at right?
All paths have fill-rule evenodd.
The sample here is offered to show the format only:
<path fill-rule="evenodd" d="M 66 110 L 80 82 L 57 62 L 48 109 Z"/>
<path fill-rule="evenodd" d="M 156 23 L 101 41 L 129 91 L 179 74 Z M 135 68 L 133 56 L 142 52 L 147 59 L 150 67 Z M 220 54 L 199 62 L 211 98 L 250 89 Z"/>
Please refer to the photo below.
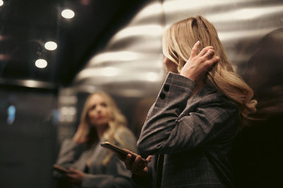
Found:
<path fill-rule="evenodd" d="M 130 163 L 145 187 L 234 187 L 228 153 L 240 123 L 255 112 L 253 90 L 226 57 L 202 16 L 163 35 L 168 76 L 149 110 L 137 146 L 149 163 Z"/>

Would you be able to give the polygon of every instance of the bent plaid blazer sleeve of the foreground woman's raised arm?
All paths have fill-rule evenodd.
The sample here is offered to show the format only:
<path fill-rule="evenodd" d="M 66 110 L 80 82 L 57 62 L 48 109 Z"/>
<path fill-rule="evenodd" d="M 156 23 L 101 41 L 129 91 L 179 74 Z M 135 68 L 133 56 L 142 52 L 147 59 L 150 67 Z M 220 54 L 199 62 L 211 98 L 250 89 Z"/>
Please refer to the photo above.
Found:
<path fill-rule="evenodd" d="M 195 149 L 234 126 L 237 105 L 223 94 L 200 99 L 195 111 L 180 115 L 195 82 L 169 73 L 142 127 L 137 147 L 141 153 L 169 154 Z"/>

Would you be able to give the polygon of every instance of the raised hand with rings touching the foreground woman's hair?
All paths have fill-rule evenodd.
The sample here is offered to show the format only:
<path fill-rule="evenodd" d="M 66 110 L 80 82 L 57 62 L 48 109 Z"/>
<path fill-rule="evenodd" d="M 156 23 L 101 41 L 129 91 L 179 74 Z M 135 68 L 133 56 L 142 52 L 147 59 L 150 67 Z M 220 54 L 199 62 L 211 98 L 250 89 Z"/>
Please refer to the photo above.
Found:
<path fill-rule="evenodd" d="M 200 41 L 197 41 L 192 47 L 189 60 L 180 72 L 180 75 L 188 77 L 195 82 L 202 82 L 212 65 L 220 60 L 218 56 L 214 56 L 213 46 L 207 46 L 200 51 L 200 54 L 197 54 L 199 46 Z"/>

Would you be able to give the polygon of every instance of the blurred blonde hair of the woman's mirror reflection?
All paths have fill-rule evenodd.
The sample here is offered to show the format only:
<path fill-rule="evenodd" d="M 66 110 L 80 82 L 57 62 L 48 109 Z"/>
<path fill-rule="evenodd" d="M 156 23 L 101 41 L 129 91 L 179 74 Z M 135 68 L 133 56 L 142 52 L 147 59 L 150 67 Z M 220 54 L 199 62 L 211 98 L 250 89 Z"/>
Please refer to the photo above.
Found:
<path fill-rule="evenodd" d="M 103 138 L 111 143 L 119 143 L 121 146 L 129 147 L 127 143 L 123 142 L 123 140 L 119 137 L 117 133 L 122 127 L 127 127 L 127 119 L 125 118 L 125 115 L 122 114 L 120 109 L 117 107 L 117 104 L 112 99 L 112 97 L 105 92 L 98 91 L 93 94 L 90 94 L 88 98 L 86 99 L 85 105 L 83 107 L 83 112 L 81 113 L 81 124 L 83 124 L 83 135 L 86 137 L 89 137 L 90 143 L 93 144 L 98 140 L 98 135 L 96 132 L 96 129 L 93 129 L 93 126 L 91 125 L 89 118 L 88 118 L 88 111 L 91 109 L 90 100 L 91 97 L 94 95 L 100 95 L 105 100 L 105 104 L 108 108 L 108 112 L 110 115 L 110 121 L 108 123 L 108 130 L 106 130 L 103 134 Z M 108 155 L 105 156 L 105 159 L 103 160 L 103 164 L 106 165 L 110 158 L 112 157 L 113 152 L 108 151 Z"/>

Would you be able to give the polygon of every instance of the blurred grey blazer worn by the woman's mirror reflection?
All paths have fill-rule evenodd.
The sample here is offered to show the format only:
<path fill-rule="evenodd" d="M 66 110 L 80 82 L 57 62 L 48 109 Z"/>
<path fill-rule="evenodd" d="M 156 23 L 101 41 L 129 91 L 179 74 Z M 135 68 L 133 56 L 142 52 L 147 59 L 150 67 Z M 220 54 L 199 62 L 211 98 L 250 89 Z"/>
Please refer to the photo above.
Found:
<path fill-rule="evenodd" d="M 123 143 L 127 143 L 127 149 L 137 151 L 137 139 L 134 134 L 126 127 L 120 127 L 116 132 L 116 136 Z M 103 142 L 105 140 L 102 140 Z M 118 143 L 113 143 L 121 146 Z M 125 147 L 125 146 L 122 146 Z M 88 173 L 83 178 L 81 187 L 120 187 L 127 188 L 133 187 L 131 180 L 132 173 L 126 169 L 125 163 L 120 161 L 117 154 L 113 154 L 110 161 L 104 165 L 103 160 L 108 155 L 109 150 L 100 146 L 100 142 L 93 144 L 91 148 L 86 144 L 76 144 L 72 139 L 66 139 L 62 143 L 57 158 L 57 164 L 65 168 L 74 168 L 76 170 L 85 171 L 86 161 L 91 157 L 91 163 L 88 167 Z M 54 172 L 54 176 L 60 178 L 61 175 Z M 71 186 L 76 187 L 76 186 Z"/>

